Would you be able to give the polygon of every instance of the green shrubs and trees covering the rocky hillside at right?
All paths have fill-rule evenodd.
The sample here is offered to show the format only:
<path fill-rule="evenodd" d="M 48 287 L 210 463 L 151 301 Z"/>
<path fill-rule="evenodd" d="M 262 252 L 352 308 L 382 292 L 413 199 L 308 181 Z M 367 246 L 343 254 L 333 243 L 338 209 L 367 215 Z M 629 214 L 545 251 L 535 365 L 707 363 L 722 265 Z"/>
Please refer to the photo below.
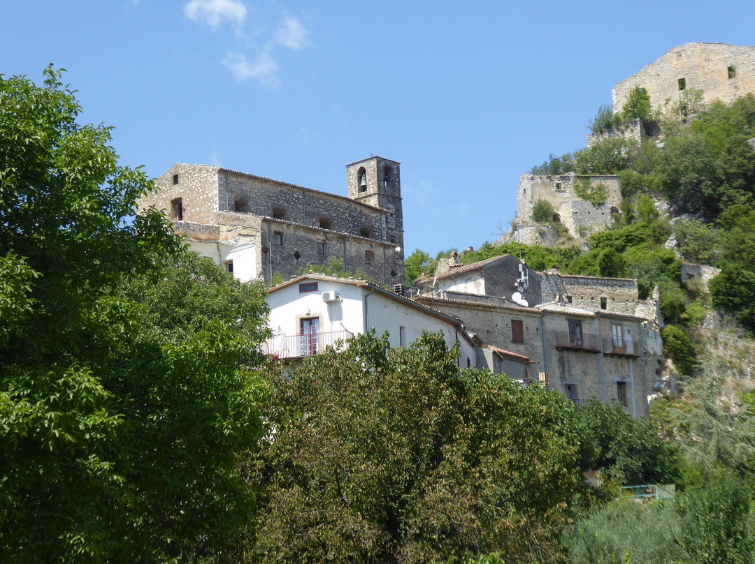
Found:
<path fill-rule="evenodd" d="M 616 116 L 602 108 L 593 131 L 640 119 L 660 136 L 641 143 L 609 136 L 532 168 L 620 176 L 624 201 L 611 228 L 584 242 L 563 238 L 556 248 L 485 243 L 461 262 L 522 253 L 535 270 L 636 278 L 641 298 L 660 290 L 664 351 L 685 378 L 680 394 L 652 403 L 652 425 L 676 449 L 678 493 L 646 507 L 593 504 L 562 537 L 572 561 L 753 562 L 755 98 L 714 103 L 687 121 L 652 114 L 639 89 L 627 106 Z M 552 211 L 541 208 L 536 203 L 536 220 L 549 222 Z M 427 253 L 412 257 L 433 267 Z M 709 292 L 682 283 L 683 260 L 721 269 Z"/>

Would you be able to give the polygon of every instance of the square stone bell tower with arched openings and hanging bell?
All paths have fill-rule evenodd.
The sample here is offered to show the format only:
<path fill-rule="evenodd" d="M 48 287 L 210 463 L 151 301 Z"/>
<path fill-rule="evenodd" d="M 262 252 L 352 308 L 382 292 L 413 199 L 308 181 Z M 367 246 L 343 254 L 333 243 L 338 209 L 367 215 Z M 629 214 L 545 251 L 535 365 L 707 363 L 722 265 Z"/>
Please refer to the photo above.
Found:
<path fill-rule="evenodd" d="M 369 157 L 346 165 L 349 198 L 385 210 L 386 241 L 404 254 L 404 215 L 401 207 L 401 163 Z"/>

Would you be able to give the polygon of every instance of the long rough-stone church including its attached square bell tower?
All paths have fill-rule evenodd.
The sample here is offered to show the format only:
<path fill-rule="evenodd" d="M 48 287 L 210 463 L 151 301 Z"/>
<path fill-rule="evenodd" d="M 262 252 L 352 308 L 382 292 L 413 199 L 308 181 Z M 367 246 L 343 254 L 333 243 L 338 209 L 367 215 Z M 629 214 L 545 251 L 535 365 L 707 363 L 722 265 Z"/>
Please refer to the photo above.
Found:
<path fill-rule="evenodd" d="M 399 163 L 347 164 L 347 197 L 200 164 L 174 164 L 140 209 L 166 210 L 193 250 L 268 286 L 307 265 L 343 262 L 377 284 L 404 284 Z"/>

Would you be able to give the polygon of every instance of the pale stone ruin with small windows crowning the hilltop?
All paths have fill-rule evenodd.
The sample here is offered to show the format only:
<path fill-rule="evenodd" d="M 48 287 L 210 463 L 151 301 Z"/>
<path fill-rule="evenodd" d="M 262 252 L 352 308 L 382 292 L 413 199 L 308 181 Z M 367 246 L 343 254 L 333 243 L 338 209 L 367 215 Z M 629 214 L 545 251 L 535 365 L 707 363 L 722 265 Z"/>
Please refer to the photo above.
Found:
<path fill-rule="evenodd" d="M 701 90 L 705 104 L 732 103 L 755 93 L 755 47 L 728 43 L 686 43 L 613 87 L 613 107 L 621 111 L 629 93 L 644 88 L 650 104 L 662 111 L 685 103 L 688 90 Z M 684 112 L 684 108 L 681 108 Z"/>

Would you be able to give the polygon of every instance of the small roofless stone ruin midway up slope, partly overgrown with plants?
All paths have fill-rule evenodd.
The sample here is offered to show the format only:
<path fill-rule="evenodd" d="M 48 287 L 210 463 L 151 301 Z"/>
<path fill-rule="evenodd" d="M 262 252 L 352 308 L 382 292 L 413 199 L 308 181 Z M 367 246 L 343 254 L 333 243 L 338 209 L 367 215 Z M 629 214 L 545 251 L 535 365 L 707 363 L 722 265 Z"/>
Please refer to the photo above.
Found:
<path fill-rule="evenodd" d="M 590 195 L 595 205 L 584 199 Z M 560 223 L 575 238 L 611 225 L 612 213 L 621 207 L 618 176 L 538 176 L 525 173 L 519 178 L 516 191 L 516 220 L 519 236 L 524 244 L 553 247 L 557 229 L 553 225 L 538 225 L 532 219 L 532 209 L 538 201 L 553 206 L 554 223 Z"/>

